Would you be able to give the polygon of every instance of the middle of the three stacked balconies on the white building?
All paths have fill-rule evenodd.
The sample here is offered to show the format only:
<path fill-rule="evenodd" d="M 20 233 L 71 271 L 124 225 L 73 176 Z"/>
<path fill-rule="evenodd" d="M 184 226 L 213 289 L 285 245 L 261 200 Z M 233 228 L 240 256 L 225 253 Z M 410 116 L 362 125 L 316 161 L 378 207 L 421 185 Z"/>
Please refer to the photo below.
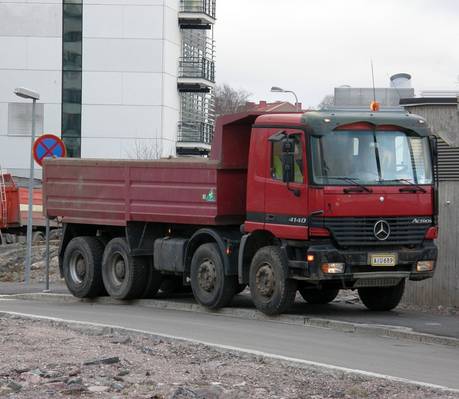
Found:
<path fill-rule="evenodd" d="M 215 85 L 215 62 L 205 57 L 181 57 L 177 85 L 179 92 L 208 93 Z"/>

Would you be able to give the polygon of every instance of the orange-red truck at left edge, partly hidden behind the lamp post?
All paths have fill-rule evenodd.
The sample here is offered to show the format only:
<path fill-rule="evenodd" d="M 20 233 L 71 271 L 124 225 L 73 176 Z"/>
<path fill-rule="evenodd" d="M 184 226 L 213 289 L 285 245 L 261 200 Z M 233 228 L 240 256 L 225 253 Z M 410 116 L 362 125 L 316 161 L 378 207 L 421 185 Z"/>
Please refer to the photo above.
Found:
<path fill-rule="evenodd" d="M 14 243 L 19 237 L 25 237 L 28 203 L 29 190 L 19 187 L 11 174 L 0 172 L 0 245 Z M 44 240 L 46 221 L 43 216 L 41 188 L 33 190 L 32 223 L 32 241 Z"/>

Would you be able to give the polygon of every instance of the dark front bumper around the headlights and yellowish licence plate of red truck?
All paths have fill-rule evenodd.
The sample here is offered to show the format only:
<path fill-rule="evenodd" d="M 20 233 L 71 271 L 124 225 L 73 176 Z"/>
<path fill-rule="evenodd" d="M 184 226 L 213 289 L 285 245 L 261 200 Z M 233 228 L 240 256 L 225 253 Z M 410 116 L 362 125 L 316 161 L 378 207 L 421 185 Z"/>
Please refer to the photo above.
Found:
<path fill-rule="evenodd" d="M 396 253 L 397 265 L 392 267 L 373 267 L 369 265 L 371 253 Z M 313 262 L 289 261 L 290 277 L 314 284 L 326 283 L 343 288 L 396 285 L 402 278 L 425 280 L 433 277 L 434 270 L 418 272 L 416 264 L 421 260 L 437 259 L 438 250 L 433 241 L 425 241 L 422 247 L 406 248 L 360 248 L 338 249 L 332 244 L 314 245 L 308 248 L 307 255 L 314 255 Z M 322 272 L 324 263 L 344 263 L 345 271 L 340 274 Z"/>

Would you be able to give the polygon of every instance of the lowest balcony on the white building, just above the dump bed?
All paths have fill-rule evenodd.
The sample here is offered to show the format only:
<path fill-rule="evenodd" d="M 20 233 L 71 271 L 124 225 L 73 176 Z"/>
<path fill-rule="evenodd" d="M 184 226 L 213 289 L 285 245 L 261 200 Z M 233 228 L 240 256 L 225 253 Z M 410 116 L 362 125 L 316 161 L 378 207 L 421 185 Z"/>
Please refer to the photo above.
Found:
<path fill-rule="evenodd" d="M 178 126 L 177 153 L 180 155 L 208 154 L 213 137 L 213 124 L 181 121 Z"/>

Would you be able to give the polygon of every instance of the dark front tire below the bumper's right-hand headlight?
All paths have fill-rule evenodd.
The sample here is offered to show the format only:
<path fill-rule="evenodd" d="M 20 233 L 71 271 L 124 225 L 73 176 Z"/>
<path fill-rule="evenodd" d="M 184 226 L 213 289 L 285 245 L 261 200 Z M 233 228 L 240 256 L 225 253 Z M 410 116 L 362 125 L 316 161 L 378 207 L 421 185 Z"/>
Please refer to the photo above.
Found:
<path fill-rule="evenodd" d="M 392 310 L 400 303 L 405 290 L 405 279 L 393 287 L 359 288 L 359 297 L 370 310 Z"/>

